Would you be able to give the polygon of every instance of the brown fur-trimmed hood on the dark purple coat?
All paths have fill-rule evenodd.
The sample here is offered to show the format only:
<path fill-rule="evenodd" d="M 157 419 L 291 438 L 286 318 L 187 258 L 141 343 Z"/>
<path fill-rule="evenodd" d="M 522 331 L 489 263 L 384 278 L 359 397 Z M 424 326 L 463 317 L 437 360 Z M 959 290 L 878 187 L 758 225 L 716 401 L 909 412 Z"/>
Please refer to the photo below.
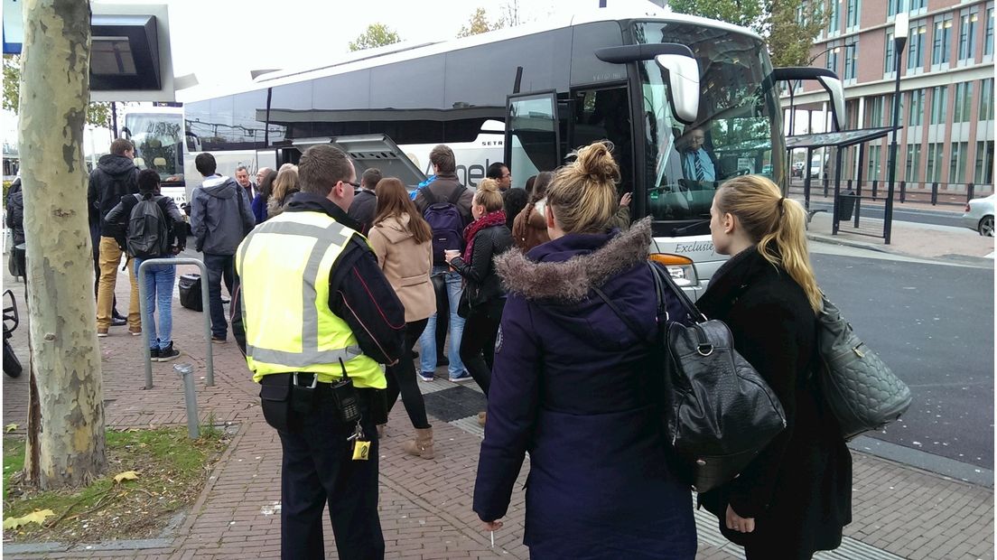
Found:
<path fill-rule="evenodd" d="M 561 239 L 531 250 L 529 255 L 536 260 L 519 251 L 508 251 L 496 257 L 496 269 L 505 289 L 528 300 L 581 302 L 593 287 L 601 287 L 613 276 L 647 260 L 651 218 L 634 222 L 629 230 L 594 250 L 580 248 L 567 260 L 555 260 L 571 251 L 570 247 L 557 246 Z"/>

